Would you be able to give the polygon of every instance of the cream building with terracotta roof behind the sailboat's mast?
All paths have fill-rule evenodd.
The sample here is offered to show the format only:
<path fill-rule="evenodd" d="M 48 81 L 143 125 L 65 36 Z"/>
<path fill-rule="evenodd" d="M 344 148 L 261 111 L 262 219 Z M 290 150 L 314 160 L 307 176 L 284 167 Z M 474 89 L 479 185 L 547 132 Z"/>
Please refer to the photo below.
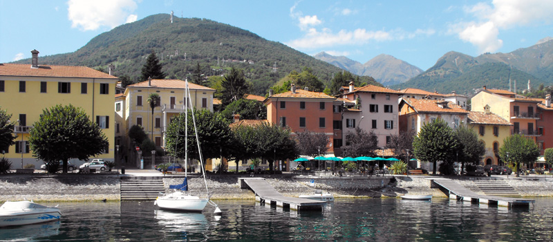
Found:
<path fill-rule="evenodd" d="M 186 84 L 182 80 L 152 79 L 126 86 L 124 93 L 115 96 L 115 131 L 118 140 L 121 140 L 120 150 L 126 159 L 135 159 L 135 146 L 128 138 L 129 129 L 137 124 L 144 127 L 157 147 L 165 147 L 165 130 L 171 118 L 185 111 Z M 195 109 L 207 109 L 213 112 L 213 94 L 215 89 L 200 86 L 189 82 L 189 98 Z M 158 93 L 160 103 L 152 112 L 148 97 Z M 190 105 L 190 104 L 189 104 Z M 117 128 L 116 128 L 117 129 Z"/>

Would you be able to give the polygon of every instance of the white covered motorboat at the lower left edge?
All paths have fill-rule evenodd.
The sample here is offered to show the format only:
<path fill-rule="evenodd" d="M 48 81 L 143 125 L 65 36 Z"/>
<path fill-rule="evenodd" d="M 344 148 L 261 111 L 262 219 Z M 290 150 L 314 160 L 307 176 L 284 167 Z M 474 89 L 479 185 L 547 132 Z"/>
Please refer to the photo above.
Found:
<path fill-rule="evenodd" d="M 57 207 L 46 207 L 32 201 L 7 201 L 0 207 L 0 227 L 55 221 L 62 217 Z"/>

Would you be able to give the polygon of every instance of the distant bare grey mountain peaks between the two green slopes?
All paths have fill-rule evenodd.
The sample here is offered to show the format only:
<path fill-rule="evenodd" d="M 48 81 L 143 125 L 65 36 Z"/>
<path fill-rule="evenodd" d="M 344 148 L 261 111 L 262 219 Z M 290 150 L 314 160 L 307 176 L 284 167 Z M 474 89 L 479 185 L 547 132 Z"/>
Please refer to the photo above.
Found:
<path fill-rule="evenodd" d="M 371 76 L 384 86 L 406 82 L 411 77 L 415 77 L 423 72 L 421 68 L 404 62 L 401 59 L 396 59 L 391 55 L 384 54 L 374 57 L 365 64 L 361 64 L 345 56 L 333 56 L 324 52 L 318 53 L 313 57 L 355 75 Z"/>

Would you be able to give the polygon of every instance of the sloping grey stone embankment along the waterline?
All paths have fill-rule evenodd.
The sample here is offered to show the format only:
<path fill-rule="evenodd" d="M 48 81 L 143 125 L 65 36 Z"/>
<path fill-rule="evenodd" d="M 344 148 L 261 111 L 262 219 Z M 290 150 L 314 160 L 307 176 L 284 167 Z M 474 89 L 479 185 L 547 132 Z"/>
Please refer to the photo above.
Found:
<path fill-rule="evenodd" d="M 284 196 L 312 194 L 315 190 L 331 192 L 337 198 L 396 197 L 400 194 L 432 194 L 444 197 L 431 184 L 431 176 L 342 176 L 319 178 L 309 176 L 267 176 L 270 185 Z M 483 194 L 474 180 L 501 178 L 453 178 L 457 183 Z M 182 183 L 183 178 L 163 178 L 165 189 Z M 313 180 L 313 183 L 311 183 Z M 509 178 L 505 181 L 521 196 L 553 196 L 553 179 Z M 312 184 L 312 185 L 311 185 Z M 212 199 L 254 199 L 250 189 L 241 189 L 238 176 L 209 176 L 207 187 Z M 205 191 L 203 178 L 189 177 L 191 191 Z M 108 201 L 120 200 L 118 176 L 0 176 L 0 201 Z"/>

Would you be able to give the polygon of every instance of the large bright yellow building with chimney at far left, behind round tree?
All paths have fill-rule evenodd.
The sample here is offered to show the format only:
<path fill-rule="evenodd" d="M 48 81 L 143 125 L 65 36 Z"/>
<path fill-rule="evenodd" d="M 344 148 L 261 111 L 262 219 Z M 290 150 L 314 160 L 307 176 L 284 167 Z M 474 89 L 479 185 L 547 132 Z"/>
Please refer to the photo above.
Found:
<path fill-rule="evenodd" d="M 37 50 L 32 50 L 32 64 L 0 64 L 0 106 L 12 114 L 16 123 L 16 145 L 9 147 L 6 158 L 12 169 L 26 164 L 40 167 L 28 149 L 29 130 L 39 120 L 44 109 L 57 104 L 73 104 L 82 108 L 94 122 L 98 122 L 109 140 L 105 153 L 97 158 L 113 160 L 113 95 L 117 77 L 86 66 L 39 65 Z M 75 165 L 83 161 L 71 160 Z"/>

